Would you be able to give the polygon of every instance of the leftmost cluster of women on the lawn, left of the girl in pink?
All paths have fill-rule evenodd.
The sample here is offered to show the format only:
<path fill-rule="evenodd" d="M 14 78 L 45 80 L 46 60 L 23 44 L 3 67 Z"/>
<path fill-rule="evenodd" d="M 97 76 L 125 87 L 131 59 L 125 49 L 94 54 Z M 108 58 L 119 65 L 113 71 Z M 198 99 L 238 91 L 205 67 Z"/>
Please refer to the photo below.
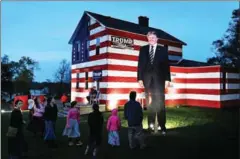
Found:
<path fill-rule="evenodd" d="M 44 139 L 49 147 L 56 147 L 54 142 L 55 124 L 57 120 L 58 108 L 53 97 L 43 98 L 34 97 L 28 100 L 29 103 L 29 122 L 27 130 L 36 137 L 38 134 Z M 21 107 L 23 101 L 17 100 L 10 116 L 10 124 L 7 132 L 8 153 L 10 159 L 19 159 L 28 151 L 28 143 L 24 139 L 23 120 Z"/>

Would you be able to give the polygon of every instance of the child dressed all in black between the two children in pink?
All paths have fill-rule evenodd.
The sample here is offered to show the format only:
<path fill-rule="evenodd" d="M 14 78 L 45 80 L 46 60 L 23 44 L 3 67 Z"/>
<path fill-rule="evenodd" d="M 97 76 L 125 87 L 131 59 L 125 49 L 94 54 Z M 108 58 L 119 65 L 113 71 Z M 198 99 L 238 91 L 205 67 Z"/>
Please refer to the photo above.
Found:
<path fill-rule="evenodd" d="M 99 111 L 98 104 L 93 104 L 93 112 L 88 115 L 89 141 L 85 150 L 85 155 L 89 149 L 93 148 L 93 157 L 96 157 L 98 147 L 102 142 L 103 116 Z"/>

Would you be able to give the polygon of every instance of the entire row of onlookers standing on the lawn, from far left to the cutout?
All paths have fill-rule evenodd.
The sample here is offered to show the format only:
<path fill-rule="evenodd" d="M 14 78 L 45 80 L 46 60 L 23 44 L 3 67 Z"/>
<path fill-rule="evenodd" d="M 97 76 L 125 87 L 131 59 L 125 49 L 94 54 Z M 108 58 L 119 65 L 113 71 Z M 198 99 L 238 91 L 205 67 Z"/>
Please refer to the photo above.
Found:
<path fill-rule="evenodd" d="M 71 102 L 71 108 L 68 110 L 66 117 L 66 125 L 63 130 L 63 136 L 68 137 L 68 145 L 81 146 L 83 143 L 80 140 L 80 110 L 77 107 L 76 101 Z M 10 125 L 7 133 L 8 150 L 11 159 L 20 159 L 28 150 L 28 144 L 24 139 L 23 125 L 26 122 L 23 120 L 21 107 L 22 101 L 16 101 L 14 109 L 10 117 Z M 57 121 L 58 108 L 55 104 L 55 99 L 49 97 L 44 100 L 35 98 L 29 100 L 29 124 L 27 130 L 31 131 L 34 136 L 40 134 L 50 148 L 57 148 L 55 125 Z M 90 153 L 96 157 L 99 147 L 102 143 L 102 131 L 104 119 L 99 111 L 99 105 L 92 105 L 93 112 L 88 115 L 89 136 L 85 150 L 85 155 Z M 136 148 L 136 139 L 140 144 L 140 148 L 145 148 L 144 135 L 142 132 L 143 112 L 139 102 L 136 101 L 136 92 L 130 93 L 130 100 L 124 106 L 124 117 L 128 121 L 128 139 L 129 147 Z M 16 129 L 16 134 L 13 135 L 13 129 Z M 118 110 L 113 109 L 109 116 L 106 129 L 108 131 L 108 144 L 111 146 L 120 146 L 121 120 L 118 116 Z"/>

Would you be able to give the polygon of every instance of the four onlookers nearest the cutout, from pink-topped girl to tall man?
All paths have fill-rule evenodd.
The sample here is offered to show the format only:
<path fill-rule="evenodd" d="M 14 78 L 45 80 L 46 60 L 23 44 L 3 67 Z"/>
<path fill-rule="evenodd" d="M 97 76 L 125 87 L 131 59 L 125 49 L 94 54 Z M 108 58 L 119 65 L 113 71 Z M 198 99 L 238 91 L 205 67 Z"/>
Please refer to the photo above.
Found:
<path fill-rule="evenodd" d="M 135 149 L 137 143 L 140 148 L 146 147 L 144 142 L 143 133 L 143 110 L 139 102 L 136 101 L 136 92 L 132 91 L 129 95 L 130 100 L 124 106 L 124 117 L 128 121 L 128 139 L 129 147 Z M 77 102 L 71 103 L 71 109 L 68 111 L 66 126 L 63 135 L 68 136 L 69 146 L 82 145 L 80 141 L 80 112 L 76 108 Z M 99 147 L 102 143 L 102 130 L 103 130 L 103 115 L 99 111 L 99 105 L 94 103 L 92 105 L 93 112 L 88 115 L 89 136 L 88 143 L 85 150 L 85 155 L 92 151 L 93 157 L 96 157 Z M 118 109 L 113 109 L 111 115 L 106 122 L 106 129 L 108 131 L 108 144 L 112 147 L 120 146 L 121 120 L 118 116 Z M 138 142 L 137 142 L 138 141 Z"/>

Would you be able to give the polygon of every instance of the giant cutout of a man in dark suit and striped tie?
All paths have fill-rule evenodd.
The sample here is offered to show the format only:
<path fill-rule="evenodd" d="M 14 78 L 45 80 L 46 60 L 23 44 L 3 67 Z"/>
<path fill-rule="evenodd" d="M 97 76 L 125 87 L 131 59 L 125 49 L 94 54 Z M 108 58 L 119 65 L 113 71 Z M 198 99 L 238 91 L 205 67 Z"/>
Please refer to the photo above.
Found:
<path fill-rule="evenodd" d="M 157 115 L 158 129 L 161 128 L 162 134 L 165 135 L 165 87 L 171 81 L 168 48 L 157 45 L 158 38 L 154 31 L 148 32 L 147 39 L 149 44 L 140 48 L 137 79 L 140 86 L 145 89 L 148 128 L 154 130 L 155 116 Z M 149 96 L 151 96 L 150 103 Z"/>

